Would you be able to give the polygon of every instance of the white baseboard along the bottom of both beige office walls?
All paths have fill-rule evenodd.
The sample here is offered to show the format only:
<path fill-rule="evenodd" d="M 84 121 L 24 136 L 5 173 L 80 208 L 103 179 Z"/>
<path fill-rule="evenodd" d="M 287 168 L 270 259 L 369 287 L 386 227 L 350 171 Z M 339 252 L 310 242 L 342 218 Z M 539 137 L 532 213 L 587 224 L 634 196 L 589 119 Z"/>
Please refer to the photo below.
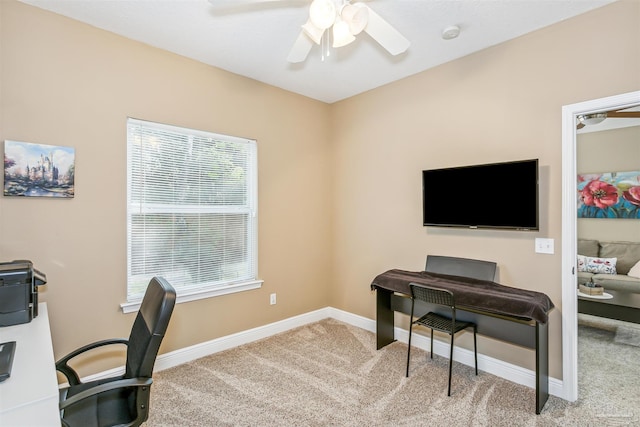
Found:
<path fill-rule="evenodd" d="M 332 307 L 326 307 L 320 310 L 312 311 L 299 316 L 290 317 L 268 325 L 260 326 L 254 329 L 238 332 L 236 334 L 227 335 L 225 337 L 216 338 L 211 341 L 196 344 L 190 347 L 174 350 L 169 353 L 158 355 L 155 364 L 155 371 L 172 368 L 201 357 L 209 356 L 223 350 L 228 350 L 239 345 L 248 344 L 259 339 L 267 338 L 281 332 L 288 331 L 299 326 L 317 322 L 322 319 L 333 318 L 349 325 L 365 329 L 370 332 L 376 331 L 375 320 L 358 316 L 346 311 L 338 310 Z M 398 341 L 407 342 L 409 332 L 405 329 L 394 328 L 395 337 Z M 429 351 L 430 340 L 424 335 L 414 334 L 412 345 Z M 449 346 L 442 341 L 434 342 L 433 352 L 443 357 L 449 357 Z M 473 366 L 473 351 L 456 347 L 454 350 L 454 360 L 468 366 Z M 535 388 L 536 373 L 530 369 L 525 369 L 499 359 L 478 354 L 478 369 L 495 375 L 500 378 L 521 384 L 530 388 Z M 91 379 L 103 378 L 112 375 L 114 372 L 121 372 L 122 369 L 110 370 L 103 372 L 98 376 L 92 376 Z M 549 378 L 549 394 L 566 399 L 563 397 L 562 380 Z"/>

